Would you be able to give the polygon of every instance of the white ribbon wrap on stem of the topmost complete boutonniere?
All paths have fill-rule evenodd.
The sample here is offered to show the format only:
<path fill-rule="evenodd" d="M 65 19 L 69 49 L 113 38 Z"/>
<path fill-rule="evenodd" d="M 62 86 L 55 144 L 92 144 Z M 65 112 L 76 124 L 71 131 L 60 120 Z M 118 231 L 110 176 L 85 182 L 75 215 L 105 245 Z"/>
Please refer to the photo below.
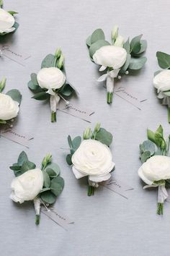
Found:
<path fill-rule="evenodd" d="M 102 66 L 103 67 L 103 66 Z M 107 80 L 107 93 L 112 93 L 114 89 L 114 78 L 117 77 L 117 74 L 120 72 L 120 69 L 113 69 L 106 74 L 102 74 L 101 77 L 97 80 L 97 82 L 103 82 Z"/>

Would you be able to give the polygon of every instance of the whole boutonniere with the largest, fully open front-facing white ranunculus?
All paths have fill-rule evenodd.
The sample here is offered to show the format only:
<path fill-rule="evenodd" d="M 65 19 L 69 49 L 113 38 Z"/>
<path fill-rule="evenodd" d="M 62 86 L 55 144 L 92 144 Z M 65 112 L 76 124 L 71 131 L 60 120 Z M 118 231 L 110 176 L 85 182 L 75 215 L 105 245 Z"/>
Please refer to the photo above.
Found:
<path fill-rule="evenodd" d="M 88 176 L 88 195 L 94 195 L 94 188 L 99 187 L 99 182 L 111 177 L 115 163 L 109 145 L 112 143 L 112 134 L 97 124 L 92 131 L 86 128 L 83 138 L 68 136 L 70 154 L 66 156 L 68 165 L 72 166 L 76 179 Z"/>

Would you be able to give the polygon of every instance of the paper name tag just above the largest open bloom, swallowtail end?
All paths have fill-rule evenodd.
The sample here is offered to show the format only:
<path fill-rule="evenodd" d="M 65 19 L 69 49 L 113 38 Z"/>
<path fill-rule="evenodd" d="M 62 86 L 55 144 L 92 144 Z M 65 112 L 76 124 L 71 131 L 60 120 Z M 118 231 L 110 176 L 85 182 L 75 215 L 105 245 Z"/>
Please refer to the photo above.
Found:
<path fill-rule="evenodd" d="M 76 116 L 79 119 L 88 121 L 89 123 L 91 123 L 91 115 L 94 114 L 94 111 L 81 108 L 80 106 L 76 106 L 74 103 L 70 103 L 68 107 L 66 107 L 66 103 L 64 101 L 61 101 L 58 109 L 66 114 L 70 114 L 71 116 Z"/>

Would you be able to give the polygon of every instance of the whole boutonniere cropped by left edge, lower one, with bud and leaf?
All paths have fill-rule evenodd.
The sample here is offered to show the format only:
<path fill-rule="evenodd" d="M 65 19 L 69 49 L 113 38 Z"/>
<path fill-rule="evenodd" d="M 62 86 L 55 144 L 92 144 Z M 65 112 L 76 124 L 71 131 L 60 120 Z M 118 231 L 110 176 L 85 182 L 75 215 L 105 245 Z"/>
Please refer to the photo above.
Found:
<path fill-rule="evenodd" d="M 2 93 L 6 85 L 6 78 L 0 82 L 0 124 L 7 124 L 12 127 L 12 121 L 18 115 L 22 95 L 19 90 L 12 89 L 6 94 Z"/>

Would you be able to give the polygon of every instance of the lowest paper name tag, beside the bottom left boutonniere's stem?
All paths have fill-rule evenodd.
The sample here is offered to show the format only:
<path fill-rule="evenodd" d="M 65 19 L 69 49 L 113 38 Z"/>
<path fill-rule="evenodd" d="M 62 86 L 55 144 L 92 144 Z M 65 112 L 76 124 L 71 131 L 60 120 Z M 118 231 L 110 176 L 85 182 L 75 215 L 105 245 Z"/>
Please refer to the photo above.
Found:
<path fill-rule="evenodd" d="M 63 215 L 63 213 L 58 212 L 58 210 L 53 208 L 48 208 L 48 210 L 44 207 L 41 208 L 41 212 L 44 213 L 48 218 L 62 226 L 63 229 L 67 230 L 68 225 L 74 223 L 68 217 Z"/>

